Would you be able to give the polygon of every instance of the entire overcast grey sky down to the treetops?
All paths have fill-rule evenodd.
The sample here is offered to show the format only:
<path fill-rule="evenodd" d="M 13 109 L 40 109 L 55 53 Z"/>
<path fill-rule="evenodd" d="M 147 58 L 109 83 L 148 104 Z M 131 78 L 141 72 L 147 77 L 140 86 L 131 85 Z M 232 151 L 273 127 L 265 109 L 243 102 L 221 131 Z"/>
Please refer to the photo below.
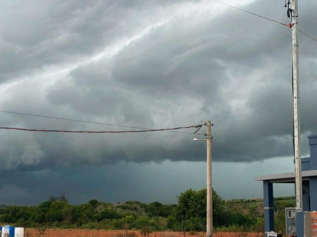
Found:
<path fill-rule="evenodd" d="M 284 0 L 222 1 L 290 23 Z M 299 29 L 316 39 L 317 1 L 298 5 Z M 225 199 L 263 197 L 254 176 L 294 170 L 289 27 L 214 0 L 10 0 L 0 22 L 1 127 L 124 131 L 211 120 L 213 186 Z M 307 136 L 317 134 L 317 41 L 300 33 L 299 45 L 308 157 Z M 181 192 L 206 187 L 206 143 L 193 142 L 204 138 L 195 130 L 2 129 L 0 203 L 33 205 L 63 193 L 73 204 L 177 203 Z M 274 186 L 276 196 L 293 190 Z"/>

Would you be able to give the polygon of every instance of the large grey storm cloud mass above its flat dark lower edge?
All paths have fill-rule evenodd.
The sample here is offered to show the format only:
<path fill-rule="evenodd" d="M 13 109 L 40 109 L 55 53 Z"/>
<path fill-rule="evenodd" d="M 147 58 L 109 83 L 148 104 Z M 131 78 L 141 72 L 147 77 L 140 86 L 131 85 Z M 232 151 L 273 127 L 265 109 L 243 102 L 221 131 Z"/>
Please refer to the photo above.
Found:
<path fill-rule="evenodd" d="M 288 23 L 282 4 L 259 5 L 252 1 L 241 7 Z M 300 26 L 314 35 L 315 18 L 307 16 L 313 15 L 312 5 L 316 3 L 300 5 Z M 292 155 L 288 27 L 213 1 L 34 1 L 6 7 L 11 13 L 1 13 L 6 22 L 0 28 L 2 110 L 148 128 L 211 119 L 216 161 Z M 317 47 L 304 35 L 300 39 L 306 136 L 317 132 L 312 100 Z M 127 130 L 7 114 L 1 122 L 27 128 Z M 4 131 L 1 137 L 0 155 L 6 158 L 2 170 L 204 160 L 206 152 L 205 144 L 192 144 L 193 136 L 170 132 Z"/>

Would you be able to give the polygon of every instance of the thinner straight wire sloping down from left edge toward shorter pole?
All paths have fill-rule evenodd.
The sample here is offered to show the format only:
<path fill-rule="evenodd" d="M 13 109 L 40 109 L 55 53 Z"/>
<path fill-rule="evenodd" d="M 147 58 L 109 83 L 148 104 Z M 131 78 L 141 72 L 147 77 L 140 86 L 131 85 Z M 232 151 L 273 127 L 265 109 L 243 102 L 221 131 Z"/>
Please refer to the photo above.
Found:
<path fill-rule="evenodd" d="M 71 119 L 71 118 L 60 118 L 60 117 L 52 117 L 52 116 L 44 116 L 44 115 L 26 114 L 26 113 L 20 113 L 20 112 L 4 111 L 4 110 L 0 110 L 0 112 L 8 113 L 8 114 L 15 114 L 15 115 L 33 116 L 33 117 L 40 117 L 40 118 L 52 118 L 52 119 L 59 119 L 59 120 L 66 120 L 66 121 L 85 122 L 85 123 L 101 124 L 101 125 L 116 126 L 116 127 L 127 127 L 127 128 L 137 128 L 137 129 L 145 129 L 145 130 L 155 130 L 155 129 L 147 128 L 147 127 L 126 126 L 126 125 L 110 124 L 110 123 L 103 123 L 103 122 L 93 122 L 93 121 Z M 172 130 L 165 130 L 165 131 L 166 132 L 193 134 L 193 133 L 190 133 L 190 132 L 180 132 L 180 131 L 172 131 Z"/>

